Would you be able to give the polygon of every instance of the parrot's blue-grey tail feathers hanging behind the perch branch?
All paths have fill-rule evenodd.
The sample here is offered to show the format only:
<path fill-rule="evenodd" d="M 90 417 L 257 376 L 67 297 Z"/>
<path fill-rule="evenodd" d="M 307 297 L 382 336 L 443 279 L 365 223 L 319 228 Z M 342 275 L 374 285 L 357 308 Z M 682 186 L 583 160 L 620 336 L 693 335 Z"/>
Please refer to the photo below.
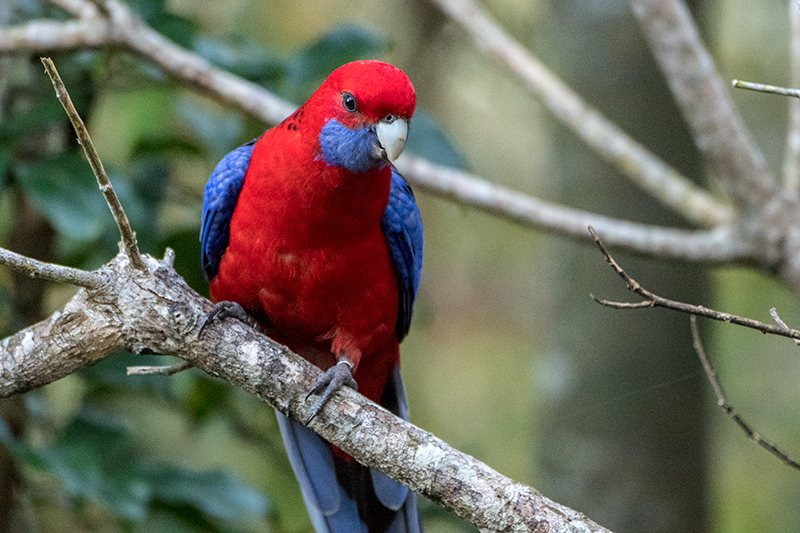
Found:
<path fill-rule="evenodd" d="M 399 367 L 381 401 L 408 420 Z M 417 495 L 377 470 L 334 460 L 331 445 L 281 413 L 278 426 L 317 533 L 421 533 Z"/>

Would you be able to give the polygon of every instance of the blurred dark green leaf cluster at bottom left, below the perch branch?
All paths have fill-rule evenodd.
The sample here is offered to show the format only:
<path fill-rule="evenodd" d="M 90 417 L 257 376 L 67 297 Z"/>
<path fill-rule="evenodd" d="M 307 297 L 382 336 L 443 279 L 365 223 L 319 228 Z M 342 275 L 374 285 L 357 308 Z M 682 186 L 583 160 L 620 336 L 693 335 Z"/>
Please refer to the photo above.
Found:
<path fill-rule="evenodd" d="M 58 479 L 74 505 L 94 501 L 122 521 L 143 521 L 167 506 L 192 510 L 211 531 L 268 510 L 266 498 L 233 474 L 140 457 L 128 428 L 103 411 L 82 409 L 51 445 L 40 447 L 14 439 L 0 420 L 0 442 L 22 465 Z"/>

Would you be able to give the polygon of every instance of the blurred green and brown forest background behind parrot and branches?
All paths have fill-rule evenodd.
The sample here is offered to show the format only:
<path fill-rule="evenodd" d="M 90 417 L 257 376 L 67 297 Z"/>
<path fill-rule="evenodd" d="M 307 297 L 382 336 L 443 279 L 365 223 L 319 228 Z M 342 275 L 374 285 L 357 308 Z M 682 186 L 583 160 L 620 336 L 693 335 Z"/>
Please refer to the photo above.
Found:
<path fill-rule="evenodd" d="M 420 0 L 126 0 L 148 24 L 297 104 L 335 67 L 389 61 L 418 93 L 408 150 L 493 182 L 635 221 L 681 221 L 557 123 L 456 25 Z M 590 104 L 698 183 L 703 164 L 623 0 L 487 0 L 504 27 Z M 690 2 L 723 78 L 789 83 L 788 2 Z M 2 0 L 0 25 L 68 15 Z M 111 50 L 53 59 L 143 251 L 177 252 L 202 294 L 205 181 L 265 124 Z M 735 91 L 778 168 L 788 101 Z M 710 185 L 712 189 L 713 184 Z M 402 346 L 412 422 L 618 531 L 795 531 L 800 473 L 716 408 L 687 316 L 630 299 L 593 246 L 417 193 L 424 275 Z M 38 57 L 0 57 L 0 246 L 96 268 L 117 232 Z M 744 268 L 616 254 L 654 292 L 800 324 L 797 295 Z M 0 269 L 0 337 L 74 289 Z M 701 323 L 733 404 L 800 455 L 793 344 Z M 120 355 L 0 402 L 2 531 L 310 531 L 271 408 L 198 371 Z M 11 493 L 16 492 L 12 498 Z M 430 531 L 473 531 L 423 500 Z"/>

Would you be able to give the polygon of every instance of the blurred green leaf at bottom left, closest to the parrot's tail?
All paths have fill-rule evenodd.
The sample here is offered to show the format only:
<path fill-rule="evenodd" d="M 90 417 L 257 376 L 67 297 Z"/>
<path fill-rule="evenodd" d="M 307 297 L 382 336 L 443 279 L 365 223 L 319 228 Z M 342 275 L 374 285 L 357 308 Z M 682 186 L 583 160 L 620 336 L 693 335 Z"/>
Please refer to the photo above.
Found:
<path fill-rule="evenodd" d="M 263 516 L 267 498 L 228 472 L 189 470 L 166 464 L 148 468 L 153 496 L 174 505 L 190 505 L 211 518 L 239 521 Z"/>

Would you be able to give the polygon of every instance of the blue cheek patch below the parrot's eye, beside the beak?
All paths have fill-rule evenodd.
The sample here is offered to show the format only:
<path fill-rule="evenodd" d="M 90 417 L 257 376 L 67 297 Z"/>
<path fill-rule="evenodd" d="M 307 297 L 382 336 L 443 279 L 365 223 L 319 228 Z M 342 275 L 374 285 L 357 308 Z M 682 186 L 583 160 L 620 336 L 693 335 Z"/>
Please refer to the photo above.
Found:
<path fill-rule="evenodd" d="M 325 163 L 351 172 L 365 172 L 385 164 L 374 157 L 378 137 L 372 128 L 351 130 L 336 119 L 329 120 L 319 132 L 319 145 Z"/>

